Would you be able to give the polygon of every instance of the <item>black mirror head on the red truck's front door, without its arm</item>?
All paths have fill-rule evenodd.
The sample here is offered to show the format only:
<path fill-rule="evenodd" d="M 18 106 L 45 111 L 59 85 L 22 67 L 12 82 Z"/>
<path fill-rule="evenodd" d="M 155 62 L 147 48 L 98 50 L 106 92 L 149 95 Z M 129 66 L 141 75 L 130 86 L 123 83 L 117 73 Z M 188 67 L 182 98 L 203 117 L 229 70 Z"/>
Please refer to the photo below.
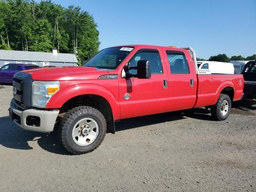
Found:
<path fill-rule="evenodd" d="M 151 68 L 149 60 L 139 60 L 137 63 L 138 79 L 149 79 L 151 77 Z"/>

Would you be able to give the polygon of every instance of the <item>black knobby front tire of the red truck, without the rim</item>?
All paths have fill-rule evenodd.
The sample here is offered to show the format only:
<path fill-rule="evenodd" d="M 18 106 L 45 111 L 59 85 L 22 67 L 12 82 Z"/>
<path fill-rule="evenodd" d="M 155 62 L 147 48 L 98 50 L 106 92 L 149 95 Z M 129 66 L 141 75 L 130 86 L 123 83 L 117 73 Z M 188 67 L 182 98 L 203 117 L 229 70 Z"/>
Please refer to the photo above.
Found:
<path fill-rule="evenodd" d="M 93 118 L 98 123 L 99 127 L 99 133 L 96 139 L 86 146 L 76 144 L 72 138 L 72 130 L 76 122 L 82 118 Z M 106 120 L 100 111 L 89 106 L 80 106 L 73 108 L 65 114 L 64 118 L 62 118 L 58 136 L 61 144 L 68 150 L 68 152 L 74 155 L 79 155 L 92 152 L 100 146 L 106 135 L 106 130 Z"/>

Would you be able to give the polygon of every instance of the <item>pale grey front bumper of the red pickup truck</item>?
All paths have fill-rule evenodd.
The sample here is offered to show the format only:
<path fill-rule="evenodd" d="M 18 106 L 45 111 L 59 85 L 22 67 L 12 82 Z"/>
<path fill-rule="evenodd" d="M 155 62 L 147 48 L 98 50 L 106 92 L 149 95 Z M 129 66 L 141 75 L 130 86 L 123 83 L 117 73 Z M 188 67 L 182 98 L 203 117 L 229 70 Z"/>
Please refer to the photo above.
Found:
<path fill-rule="evenodd" d="M 21 128 L 30 130 L 30 131 L 37 131 L 37 132 L 52 132 L 57 116 L 59 114 L 59 110 L 38 110 L 38 109 L 28 109 L 28 110 L 20 110 L 16 105 L 14 104 L 14 99 L 12 99 L 10 108 L 10 117 L 11 119 Z M 36 118 L 39 123 L 31 124 L 29 120 L 31 117 Z"/>

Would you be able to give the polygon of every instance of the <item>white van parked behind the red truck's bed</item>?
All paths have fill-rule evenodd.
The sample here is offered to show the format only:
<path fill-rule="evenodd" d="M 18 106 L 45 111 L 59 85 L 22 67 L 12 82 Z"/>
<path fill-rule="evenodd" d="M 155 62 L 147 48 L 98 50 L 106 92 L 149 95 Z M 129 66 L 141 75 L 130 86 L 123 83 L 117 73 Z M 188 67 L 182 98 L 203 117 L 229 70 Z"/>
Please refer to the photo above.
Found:
<path fill-rule="evenodd" d="M 200 71 L 207 71 L 210 74 L 234 74 L 234 66 L 232 63 L 197 61 L 197 66 L 199 74 L 202 73 Z"/>

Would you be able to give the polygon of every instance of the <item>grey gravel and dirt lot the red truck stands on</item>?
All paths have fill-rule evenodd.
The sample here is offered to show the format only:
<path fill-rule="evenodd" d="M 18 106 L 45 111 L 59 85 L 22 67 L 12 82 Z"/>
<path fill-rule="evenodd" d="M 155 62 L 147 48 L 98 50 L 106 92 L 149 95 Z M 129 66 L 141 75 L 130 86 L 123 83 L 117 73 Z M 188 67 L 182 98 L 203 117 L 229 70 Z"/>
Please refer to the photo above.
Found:
<path fill-rule="evenodd" d="M 0 191 L 256 191 L 256 101 L 223 122 L 204 108 L 122 120 L 92 153 L 68 154 L 56 132 L 8 118 L 0 85 Z"/>

